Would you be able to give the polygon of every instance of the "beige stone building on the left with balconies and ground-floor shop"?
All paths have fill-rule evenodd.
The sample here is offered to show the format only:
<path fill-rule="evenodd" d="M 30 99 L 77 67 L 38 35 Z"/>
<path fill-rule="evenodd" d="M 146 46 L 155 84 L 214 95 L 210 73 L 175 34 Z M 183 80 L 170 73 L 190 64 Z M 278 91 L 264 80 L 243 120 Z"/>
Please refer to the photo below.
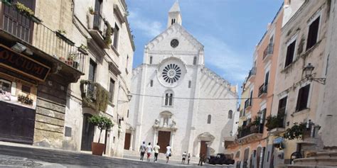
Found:
<path fill-rule="evenodd" d="M 22 5 L 17 2 L 31 11 L 18 12 Z M 1 39 L 6 39 L 1 45 L 6 53 L 39 66 L 27 74 L 20 69 L 24 65 L 16 68 L 1 60 L 5 71 L 1 73 L 1 103 L 11 107 L 1 115 L 16 119 L 1 121 L 0 139 L 91 150 L 98 133 L 87 118 L 101 114 L 115 124 L 102 135 L 105 154 L 122 156 L 134 53 L 125 2 L 15 0 L 0 4 Z M 102 99 L 98 92 L 109 98 Z M 99 101 L 108 104 L 106 110 L 95 106 Z"/>

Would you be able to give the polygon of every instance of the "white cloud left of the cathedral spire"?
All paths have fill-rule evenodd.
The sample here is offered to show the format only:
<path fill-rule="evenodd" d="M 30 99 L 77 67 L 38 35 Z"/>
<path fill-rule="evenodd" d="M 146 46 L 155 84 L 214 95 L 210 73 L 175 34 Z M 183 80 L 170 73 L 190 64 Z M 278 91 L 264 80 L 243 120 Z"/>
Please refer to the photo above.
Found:
<path fill-rule="evenodd" d="M 129 13 L 131 28 L 139 30 L 139 32 L 144 33 L 149 38 L 156 37 L 163 30 L 163 26 L 159 21 L 151 21 L 149 18 L 141 16 L 137 11 L 130 11 Z"/>

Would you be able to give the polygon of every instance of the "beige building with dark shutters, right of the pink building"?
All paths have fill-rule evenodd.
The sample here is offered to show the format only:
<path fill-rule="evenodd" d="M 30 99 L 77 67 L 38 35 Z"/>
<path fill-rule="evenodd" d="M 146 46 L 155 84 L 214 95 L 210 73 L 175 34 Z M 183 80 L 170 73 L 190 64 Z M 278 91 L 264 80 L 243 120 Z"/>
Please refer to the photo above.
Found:
<path fill-rule="evenodd" d="M 294 3 L 294 4 L 293 4 Z M 285 128 L 301 125 L 303 138 L 285 140 L 274 164 L 290 164 L 294 155 L 306 157 L 322 147 L 318 136 L 317 115 L 323 84 L 308 78 L 305 67 L 314 66 L 314 77 L 325 77 L 329 1 L 289 1 L 284 16 L 291 13 L 282 27 L 277 77 L 272 111 L 285 111 Z M 283 135 L 282 131 L 279 133 Z M 277 162 L 276 162 L 277 161 Z M 271 163 L 272 164 L 272 163 Z"/>

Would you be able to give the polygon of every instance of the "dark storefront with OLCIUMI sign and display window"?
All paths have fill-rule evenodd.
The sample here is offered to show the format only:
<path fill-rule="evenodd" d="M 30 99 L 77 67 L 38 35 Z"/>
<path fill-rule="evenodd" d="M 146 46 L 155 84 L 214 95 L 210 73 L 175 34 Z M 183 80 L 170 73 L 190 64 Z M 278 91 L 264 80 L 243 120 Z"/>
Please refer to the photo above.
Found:
<path fill-rule="evenodd" d="M 0 140 L 33 144 L 38 82 L 50 67 L 0 44 Z"/>

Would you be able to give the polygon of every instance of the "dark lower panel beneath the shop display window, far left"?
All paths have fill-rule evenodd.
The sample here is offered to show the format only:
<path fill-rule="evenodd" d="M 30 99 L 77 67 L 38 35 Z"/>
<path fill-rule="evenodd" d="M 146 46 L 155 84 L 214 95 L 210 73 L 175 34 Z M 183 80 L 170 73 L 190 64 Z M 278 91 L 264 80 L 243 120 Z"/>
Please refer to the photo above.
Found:
<path fill-rule="evenodd" d="M 0 101 L 0 140 L 33 144 L 35 110 Z"/>

